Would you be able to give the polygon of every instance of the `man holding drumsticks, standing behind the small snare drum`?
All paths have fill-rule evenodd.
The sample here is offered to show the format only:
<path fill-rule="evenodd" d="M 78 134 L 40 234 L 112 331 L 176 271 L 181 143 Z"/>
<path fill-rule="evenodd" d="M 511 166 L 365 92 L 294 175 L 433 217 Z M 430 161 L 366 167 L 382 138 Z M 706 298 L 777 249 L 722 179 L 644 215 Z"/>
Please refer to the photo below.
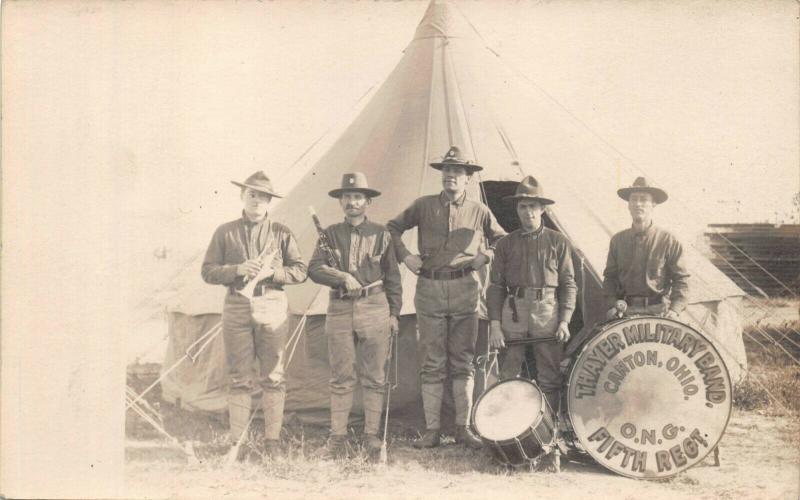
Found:
<path fill-rule="evenodd" d="M 487 291 L 489 345 L 505 347 L 505 340 L 552 337 L 534 346 L 536 378 L 550 407 L 558 411 L 563 343 L 570 337 L 577 286 L 572 248 L 558 231 L 544 227 L 542 214 L 553 200 L 544 197 L 539 182 L 525 177 L 517 186 L 514 203 L 522 227 L 497 242 Z M 519 375 L 525 346 L 509 346 L 500 365 L 501 378 Z"/>

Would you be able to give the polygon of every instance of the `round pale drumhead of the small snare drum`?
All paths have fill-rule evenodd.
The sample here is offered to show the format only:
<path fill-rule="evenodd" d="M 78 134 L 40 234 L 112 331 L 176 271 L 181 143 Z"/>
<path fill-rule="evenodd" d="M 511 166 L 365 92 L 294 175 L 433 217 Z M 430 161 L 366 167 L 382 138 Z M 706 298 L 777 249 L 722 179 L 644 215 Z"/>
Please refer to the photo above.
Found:
<path fill-rule="evenodd" d="M 541 418 L 542 393 L 533 382 L 504 380 L 478 399 L 473 427 L 482 438 L 505 441 L 521 436 Z"/>

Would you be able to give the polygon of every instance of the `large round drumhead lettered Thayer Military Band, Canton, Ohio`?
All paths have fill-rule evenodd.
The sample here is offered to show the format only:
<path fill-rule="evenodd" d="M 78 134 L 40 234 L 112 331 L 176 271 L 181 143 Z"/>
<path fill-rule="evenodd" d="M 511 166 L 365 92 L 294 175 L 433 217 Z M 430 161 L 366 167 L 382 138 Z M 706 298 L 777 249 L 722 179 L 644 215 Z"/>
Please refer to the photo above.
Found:
<path fill-rule="evenodd" d="M 731 413 L 719 352 L 690 326 L 638 316 L 602 326 L 569 378 L 568 412 L 583 448 L 623 476 L 659 479 L 701 462 Z"/>

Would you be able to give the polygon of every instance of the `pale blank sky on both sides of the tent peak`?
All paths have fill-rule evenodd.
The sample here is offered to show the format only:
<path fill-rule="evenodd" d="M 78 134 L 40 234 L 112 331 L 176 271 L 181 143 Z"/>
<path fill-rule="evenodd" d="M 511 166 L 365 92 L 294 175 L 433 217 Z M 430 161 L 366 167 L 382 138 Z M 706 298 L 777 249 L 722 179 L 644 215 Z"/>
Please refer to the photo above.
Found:
<path fill-rule="evenodd" d="M 4 20 L 14 35 L 4 160 L 28 175 L 6 182 L 6 207 L 42 187 L 63 190 L 60 210 L 82 199 L 124 220 L 130 265 L 161 245 L 196 253 L 238 213 L 230 180 L 263 169 L 279 190 L 294 186 L 395 66 L 426 7 L 18 2 Z M 791 215 L 795 2 L 458 8 L 532 92 L 696 207 L 701 222 Z"/>

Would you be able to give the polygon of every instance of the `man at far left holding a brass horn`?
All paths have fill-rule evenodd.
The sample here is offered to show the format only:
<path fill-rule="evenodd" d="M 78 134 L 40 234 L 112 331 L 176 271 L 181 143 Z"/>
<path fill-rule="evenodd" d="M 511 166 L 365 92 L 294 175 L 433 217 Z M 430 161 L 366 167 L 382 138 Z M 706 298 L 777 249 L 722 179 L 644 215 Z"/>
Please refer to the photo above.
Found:
<path fill-rule="evenodd" d="M 269 177 L 258 171 L 241 188 L 242 216 L 217 228 L 206 251 L 201 274 L 206 283 L 228 289 L 222 310 L 226 366 L 231 377 L 228 397 L 230 430 L 239 439 L 250 422 L 255 384 L 262 390 L 264 438 L 268 455 L 279 451 L 286 391 L 283 354 L 287 334 L 285 285 L 306 279 L 292 232 L 269 218 L 272 198 L 280 198 Z M 243 289 L 255 282 L 252 297 Z M 255 376 L 258 360 L 259 375 Z M 239 457 L 241 458 L 241 457 Z"/>

